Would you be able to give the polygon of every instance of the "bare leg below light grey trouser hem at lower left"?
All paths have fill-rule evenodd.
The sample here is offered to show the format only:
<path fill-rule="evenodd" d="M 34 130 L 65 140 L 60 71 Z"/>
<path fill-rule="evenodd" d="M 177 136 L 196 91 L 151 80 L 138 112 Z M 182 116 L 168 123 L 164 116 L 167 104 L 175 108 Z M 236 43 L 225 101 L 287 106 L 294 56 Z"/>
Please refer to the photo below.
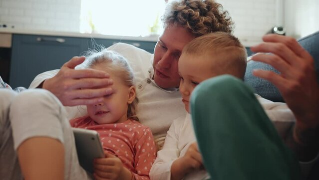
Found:
<path fill-rule="evenodd" d="M 64 179 L 63 144 L 50 137 L 31 137 L 17 148 L 25 179 Z"/>

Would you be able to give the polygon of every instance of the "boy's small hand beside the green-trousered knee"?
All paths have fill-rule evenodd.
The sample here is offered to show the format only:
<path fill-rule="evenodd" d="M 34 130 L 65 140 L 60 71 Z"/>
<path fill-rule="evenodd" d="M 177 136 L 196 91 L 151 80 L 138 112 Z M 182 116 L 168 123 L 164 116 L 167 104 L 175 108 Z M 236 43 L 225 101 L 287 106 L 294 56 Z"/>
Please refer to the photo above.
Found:
<path fill-rule="evenodd" d="M 185 174 L 194 169 L 203 168 L 202 155 L 197 142 L 192 143 L 184 156 L 176 159 L 171 166 L 171 179 L 182 179 Z"/>

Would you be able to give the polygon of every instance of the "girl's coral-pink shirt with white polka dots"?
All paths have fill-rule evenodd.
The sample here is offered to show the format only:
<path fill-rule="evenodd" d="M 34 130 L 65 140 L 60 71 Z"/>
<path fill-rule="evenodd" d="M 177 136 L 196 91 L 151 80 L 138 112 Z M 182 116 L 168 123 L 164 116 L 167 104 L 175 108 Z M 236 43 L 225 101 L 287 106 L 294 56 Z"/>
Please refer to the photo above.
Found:
<path fill-rule="evenodd" d="M 121 123 L 97 124 L 88 115 L 70 120 L 72 127 L 96 130 L 104 150 L 121 159 L 135 179 L 149 179 L 156 146 L 149 127 L 128 119 Z"/>

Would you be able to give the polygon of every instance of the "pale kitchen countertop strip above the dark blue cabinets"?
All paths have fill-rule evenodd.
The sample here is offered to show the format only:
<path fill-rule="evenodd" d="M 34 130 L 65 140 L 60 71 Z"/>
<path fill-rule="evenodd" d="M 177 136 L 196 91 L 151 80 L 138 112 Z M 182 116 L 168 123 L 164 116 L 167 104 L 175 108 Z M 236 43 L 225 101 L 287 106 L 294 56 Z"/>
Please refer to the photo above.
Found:
<path fill-rule="evenodd" d="M 14 33 L 14 34 L 29 34 L 29 35 L 52 35 L 65 37 L 86 37 L 86 38 L 105 38 L 105 39 L 122 39 L 122 40 L 142 40 L 156 42 L 158 35 L 152 36 L 123 36 L 123 35 L 106 35 L 98 33 L 80 33 L 80 32 L 66 32 L 66 31 L 45 31 L 45 30 L 30 30 L 30 29 L 14 29 L 14 28 L 0 28 L 0 33 Z"/>

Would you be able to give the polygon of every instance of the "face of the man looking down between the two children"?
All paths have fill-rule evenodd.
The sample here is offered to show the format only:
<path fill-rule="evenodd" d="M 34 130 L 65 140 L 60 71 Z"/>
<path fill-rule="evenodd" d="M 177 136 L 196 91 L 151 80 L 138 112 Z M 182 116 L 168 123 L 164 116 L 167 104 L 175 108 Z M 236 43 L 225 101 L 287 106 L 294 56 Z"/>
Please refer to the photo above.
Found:
<path fill-rule="evenodd" d="M 178 58 L 195 36 L 182 26 L 169 25 L 154 48 L 154 81 L 162 88 L 178 87 Z"/>

